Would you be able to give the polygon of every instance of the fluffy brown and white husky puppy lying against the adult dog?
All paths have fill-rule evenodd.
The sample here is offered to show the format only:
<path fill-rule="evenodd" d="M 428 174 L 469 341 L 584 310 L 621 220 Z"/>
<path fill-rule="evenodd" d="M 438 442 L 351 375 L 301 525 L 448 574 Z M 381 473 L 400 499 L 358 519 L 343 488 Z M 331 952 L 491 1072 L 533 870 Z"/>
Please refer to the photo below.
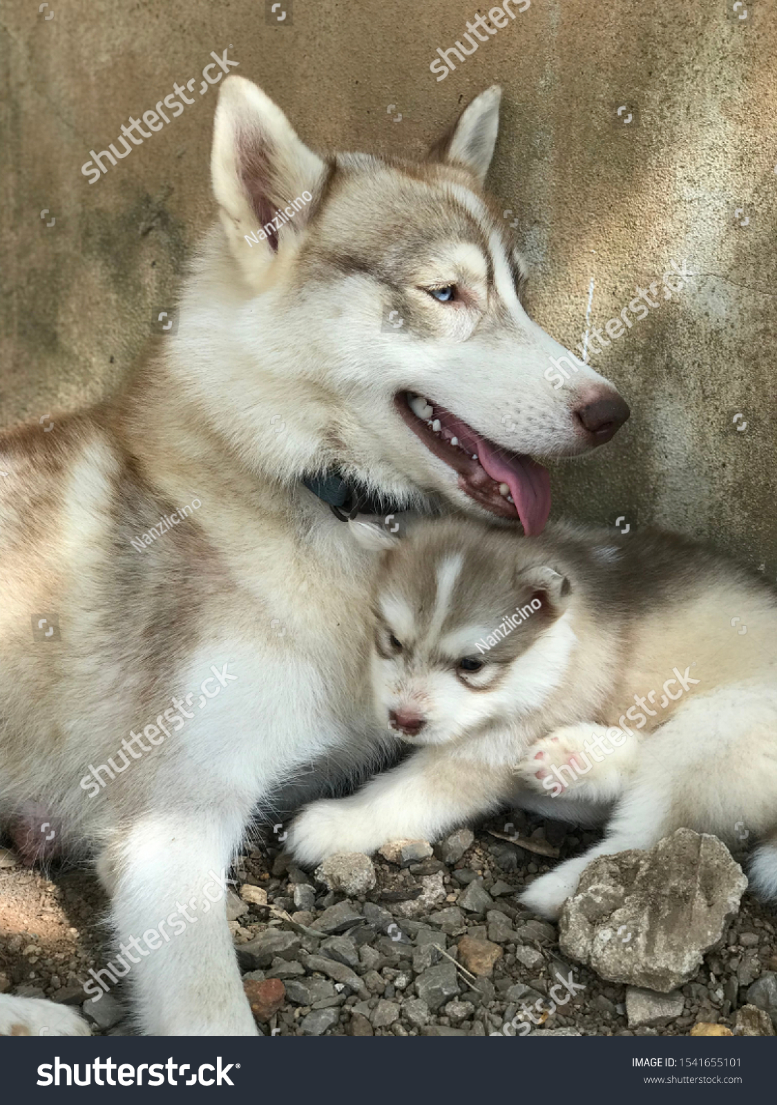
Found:
<path fill-rule="evenodd" d="M 596 855 L 680 827 L 757 842 L 777 897 L 777 598 L 683 538 L 420 523 L 375 598 L 379 720 L 419 750 L 296 820 L 301 860 L 439 839 L 506 802 L 607 820 L 602 843 L 534 882 L 557 916 Z"/>

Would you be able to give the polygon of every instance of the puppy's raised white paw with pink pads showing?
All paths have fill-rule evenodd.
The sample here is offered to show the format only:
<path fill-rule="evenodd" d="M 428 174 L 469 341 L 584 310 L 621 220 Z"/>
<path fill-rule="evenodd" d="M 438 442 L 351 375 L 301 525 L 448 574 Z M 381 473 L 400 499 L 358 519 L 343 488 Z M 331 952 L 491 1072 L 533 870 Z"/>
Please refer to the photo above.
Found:
<path fill-rule="evenodd" d="M 565 725 L 536 740 L 515 767 L 529 790 L 552 798 L 610 802 L 637 765 L 639 741 L 594 722 Z"/>

